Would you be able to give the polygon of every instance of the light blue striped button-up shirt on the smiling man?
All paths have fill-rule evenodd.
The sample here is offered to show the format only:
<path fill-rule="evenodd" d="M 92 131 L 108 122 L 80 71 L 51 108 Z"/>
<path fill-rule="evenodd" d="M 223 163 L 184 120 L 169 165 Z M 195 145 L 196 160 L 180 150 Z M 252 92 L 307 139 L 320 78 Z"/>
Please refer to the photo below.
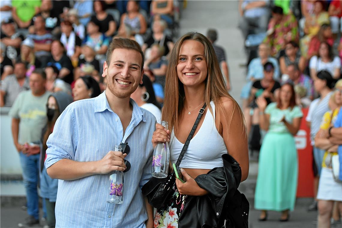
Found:
<path fill-rule="evenodd" d="M 101 160 L 115 145 L 131 148 L 124 173 L 123 204 L 107 203 L 109 174 L 59 180 L 56 227 L 145 227 L 147 213 L 141 187 L 152 177 L 152 135 L 156 118 L 132 99 L 132 119 L 125 132 L 105 93 L 70 104 L 57 119 L 47 145 L 45 167 L 61 159 Z"/>

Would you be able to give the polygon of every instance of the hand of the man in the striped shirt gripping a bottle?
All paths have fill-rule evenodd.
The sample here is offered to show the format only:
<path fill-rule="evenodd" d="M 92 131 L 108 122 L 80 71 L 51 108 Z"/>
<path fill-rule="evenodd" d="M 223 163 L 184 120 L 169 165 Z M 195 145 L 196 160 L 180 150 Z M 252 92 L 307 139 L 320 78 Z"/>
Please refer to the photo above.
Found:
<path fill-rule="evenodd" d="M 123 161 L 126 156 L 126 153 L 123 154 L 119 151 L 109 151 L 103 159 L 96 162 L 96 173 L 107 174 L 115 170 L 126 170 L 126 165 Z"/>

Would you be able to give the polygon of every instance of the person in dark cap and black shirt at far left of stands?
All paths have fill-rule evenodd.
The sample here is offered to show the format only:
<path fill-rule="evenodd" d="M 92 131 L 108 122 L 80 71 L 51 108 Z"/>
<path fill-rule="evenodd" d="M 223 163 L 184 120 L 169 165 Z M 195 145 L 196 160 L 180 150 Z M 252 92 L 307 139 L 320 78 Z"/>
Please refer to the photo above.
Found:
<path fill-rule="evenodd" d="M 20 55 L 20 44 L 24 36 L 16 31 L 12 18 L 6 18 L 1 22 L 1 31 L 1 42 L 7 46 L 6 55 L 14 61 Z"/>

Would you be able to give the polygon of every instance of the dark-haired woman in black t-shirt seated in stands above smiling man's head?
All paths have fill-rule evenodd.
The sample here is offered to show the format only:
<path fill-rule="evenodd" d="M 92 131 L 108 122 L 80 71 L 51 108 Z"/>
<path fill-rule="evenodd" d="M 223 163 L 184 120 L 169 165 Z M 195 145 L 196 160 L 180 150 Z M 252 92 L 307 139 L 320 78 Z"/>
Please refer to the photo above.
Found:
<path fill-rule="evenodd" d="M 116 23 L 114 17 L 105 11 L 104 1 L 94 1 L 95 15 L 91 17 L 91 21 L 97 24 L 101 33 L 104 33 L 107 37 L 112 37 L 116 31 Z"/>

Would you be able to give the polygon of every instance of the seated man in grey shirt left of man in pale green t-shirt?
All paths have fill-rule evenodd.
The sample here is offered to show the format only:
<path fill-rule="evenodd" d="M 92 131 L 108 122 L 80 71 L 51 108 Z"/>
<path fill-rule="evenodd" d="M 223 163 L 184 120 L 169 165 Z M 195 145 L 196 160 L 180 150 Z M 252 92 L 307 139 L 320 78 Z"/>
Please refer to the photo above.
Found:
<path fill-rule="evenodd" d="M 0 107 L 11 107 L 20 92 L 30 89 L 26 78 L 26 64 L 17 62 L 14 65 L 14 74 L 1 81 Z"/>

